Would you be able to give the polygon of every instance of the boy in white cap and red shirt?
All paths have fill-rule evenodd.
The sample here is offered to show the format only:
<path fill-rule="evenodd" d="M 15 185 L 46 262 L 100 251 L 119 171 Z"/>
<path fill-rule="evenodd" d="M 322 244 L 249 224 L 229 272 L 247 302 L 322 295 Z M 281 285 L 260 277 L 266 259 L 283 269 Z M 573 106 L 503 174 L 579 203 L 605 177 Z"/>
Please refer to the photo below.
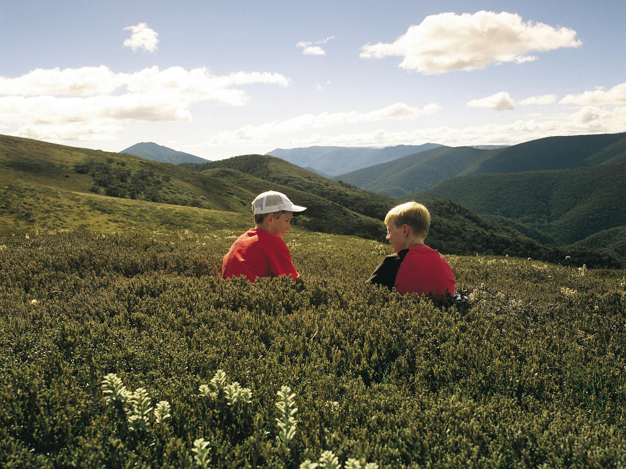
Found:
<path fill-rule="evenodd" d="M 280 275 L 291 276 L 293 280 L 298 278 L 300 274 L 295 270 L 289 248 L 282 237 L 291 229 L 289 223 L 294 212 L 305 209 L 306 207 L 294 205 L 280 192 L 267 191 L 259 194 L 252 201 L 256 228 L 239 236 L 224 256 L 223 278 L 245 275 L 251 282 L 259 277 Z"/>

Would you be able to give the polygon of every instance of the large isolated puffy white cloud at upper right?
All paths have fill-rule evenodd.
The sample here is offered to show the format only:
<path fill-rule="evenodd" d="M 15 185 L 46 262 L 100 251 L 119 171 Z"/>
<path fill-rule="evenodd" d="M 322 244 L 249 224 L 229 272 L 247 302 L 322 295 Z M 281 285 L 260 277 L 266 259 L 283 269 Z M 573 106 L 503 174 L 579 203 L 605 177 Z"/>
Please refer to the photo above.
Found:
<path fill-rule="evenodd" d="M 441 13 L 410 26 L 393 43 L 366 44 L 361 58 L 400 56 L 404 69 L 424 74 L 482 69 L 491 63 L 533 61 L 531 51 L 578 47 L 576 31 L 522 21 L 515 13 Z"/>

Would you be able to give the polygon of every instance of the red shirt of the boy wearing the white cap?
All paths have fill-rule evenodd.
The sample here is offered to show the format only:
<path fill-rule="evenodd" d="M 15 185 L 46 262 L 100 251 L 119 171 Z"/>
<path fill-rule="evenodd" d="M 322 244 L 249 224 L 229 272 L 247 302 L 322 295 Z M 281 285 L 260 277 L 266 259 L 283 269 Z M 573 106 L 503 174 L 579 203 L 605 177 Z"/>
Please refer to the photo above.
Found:
<path fill-rule="evenodd" d="M 223 258 L 223 278 L 240 275 L 251 282 L 257 277 L 291 275 L 295 280 L 300 276 L 285 242 L 262 228 L 251 228 L 239 236 Z"/>

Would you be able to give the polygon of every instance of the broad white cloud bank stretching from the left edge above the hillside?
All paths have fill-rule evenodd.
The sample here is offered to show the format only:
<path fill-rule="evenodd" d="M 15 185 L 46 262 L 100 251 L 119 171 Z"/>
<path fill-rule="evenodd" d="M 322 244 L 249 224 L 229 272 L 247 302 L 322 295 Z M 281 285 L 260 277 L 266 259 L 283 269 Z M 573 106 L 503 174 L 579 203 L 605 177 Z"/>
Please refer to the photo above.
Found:
<path fill-rule="evenodd" d="M 105 66 L 36 69 L 0 77 L 0 122 L 21 124 L 19 136 L 88 141 L 113 139 L 126 123 L 190 121 L 190 105 L 218 101 L 243 106 L 247 84 L 288 86 L 279 73 L 236 72 L 217 76 L 205 68 L 151 67 L 113 73 Z"/>

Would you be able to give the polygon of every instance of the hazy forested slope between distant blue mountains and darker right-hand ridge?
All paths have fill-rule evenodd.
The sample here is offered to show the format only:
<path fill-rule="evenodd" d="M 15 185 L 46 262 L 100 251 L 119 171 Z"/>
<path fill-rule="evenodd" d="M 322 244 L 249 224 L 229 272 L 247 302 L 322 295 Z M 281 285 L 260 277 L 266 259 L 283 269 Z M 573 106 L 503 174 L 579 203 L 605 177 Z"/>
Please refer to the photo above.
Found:
<path fill-rule="evenodd" d="M 400 197 L 426 190 L 444 179 L 456 176 L 482 158 L 484 153 L 485 150 L 469 146 L 441 146 L 341 174 L 334 179 L 367 191 Z"/>

